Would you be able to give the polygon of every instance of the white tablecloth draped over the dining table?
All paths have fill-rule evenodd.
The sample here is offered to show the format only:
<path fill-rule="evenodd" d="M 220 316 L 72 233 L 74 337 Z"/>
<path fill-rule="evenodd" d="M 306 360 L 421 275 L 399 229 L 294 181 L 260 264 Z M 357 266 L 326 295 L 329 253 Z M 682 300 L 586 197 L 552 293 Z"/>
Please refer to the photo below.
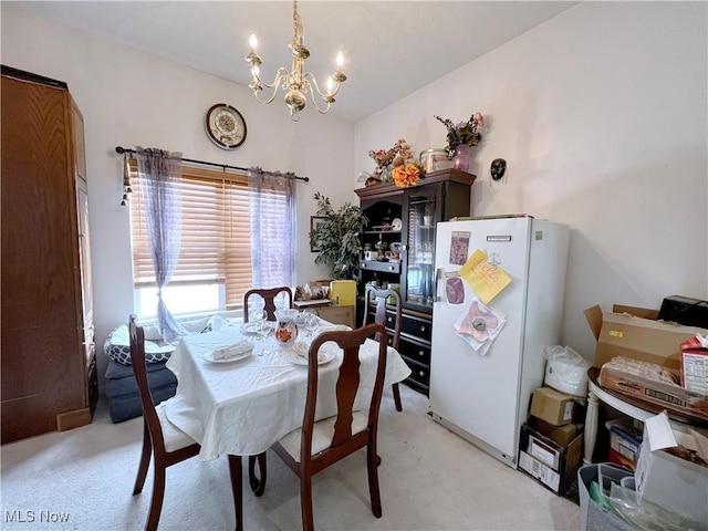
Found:
<path fill-rule="evenodd" d="M 256 352 L 240 361 L 212 363 L 202 356 L 214 348 L 247 337 L 240 329 L 185 336 L 167 362 L 177 376 L 177 394 L 167 400 L 167 418 L 201 445 L 199 458 L 221 454 L 252 456 L 267 450 L 285 434 L 302 426 L 308 367 L 292 363 L 291 348 L 273 345 L 266 356 Z M 250 337 L 250 336 L 249 336 Z M 334 358 L 320 365 L 317 418 L 336 414 L 334 385 L 342 351 L 334 343 Z M 378 343 L 362 346 L 361 384 L 355 408 L 371 399 Z M 388 347 L 384 387 L 408 377 L 410 368 Z"/>

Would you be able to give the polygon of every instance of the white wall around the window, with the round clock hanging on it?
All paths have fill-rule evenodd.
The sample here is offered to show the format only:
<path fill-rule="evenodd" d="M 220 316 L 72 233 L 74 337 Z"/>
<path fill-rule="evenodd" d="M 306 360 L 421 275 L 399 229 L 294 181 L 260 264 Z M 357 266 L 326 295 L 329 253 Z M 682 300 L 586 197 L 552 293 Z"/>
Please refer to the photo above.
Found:
<path fill-rule="evenodd" d="M 308 240 L 313 195 L 322 191 L 335 207 L 356 200 L 348 186 L 352 124 L 308 110 L 293 124 L 284 104 L 261 106 L 243 86 L 6 6 L 1 17 L 2 64 L 66 82 L 84 116 L 98 348 L 133 311 L 128 210 L 119 206 L 122 159 L 115 146 L 160 147 L 187 158 L 310 177 L 298 185 L 296 280 L 327 277 L 314 266 Z M 220 102 L 233 105 L 247 122 L 247 139 L 233 152 L 216 147 L 205 133 L 205 113 Z M 98 355 L 98 363 L 103 376 L 106 356 Z"/>

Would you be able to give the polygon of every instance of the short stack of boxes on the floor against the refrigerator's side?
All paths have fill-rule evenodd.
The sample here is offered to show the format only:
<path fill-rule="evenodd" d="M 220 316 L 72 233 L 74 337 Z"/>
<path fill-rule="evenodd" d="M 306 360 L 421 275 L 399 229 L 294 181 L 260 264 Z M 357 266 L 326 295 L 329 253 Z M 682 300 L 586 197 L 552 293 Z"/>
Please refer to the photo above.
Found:
<path fill-rule="evenodd" d="M 583 451 L 584 407 L 577 397 L 539 387 L 531 396 L 530 418 L 521 427 L 519 467 L 562 496 L 576 493 Z"/>

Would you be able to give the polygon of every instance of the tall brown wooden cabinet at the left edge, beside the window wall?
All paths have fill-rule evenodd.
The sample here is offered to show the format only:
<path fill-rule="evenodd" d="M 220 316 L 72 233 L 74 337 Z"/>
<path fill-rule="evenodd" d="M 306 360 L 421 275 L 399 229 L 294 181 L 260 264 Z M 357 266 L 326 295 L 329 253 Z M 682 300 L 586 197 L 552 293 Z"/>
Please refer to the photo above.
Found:
<path fill-rule="evenodd" d="M 98 398 L 83 117 L 2 66 L 2 442 L 92 421 Z"/>

